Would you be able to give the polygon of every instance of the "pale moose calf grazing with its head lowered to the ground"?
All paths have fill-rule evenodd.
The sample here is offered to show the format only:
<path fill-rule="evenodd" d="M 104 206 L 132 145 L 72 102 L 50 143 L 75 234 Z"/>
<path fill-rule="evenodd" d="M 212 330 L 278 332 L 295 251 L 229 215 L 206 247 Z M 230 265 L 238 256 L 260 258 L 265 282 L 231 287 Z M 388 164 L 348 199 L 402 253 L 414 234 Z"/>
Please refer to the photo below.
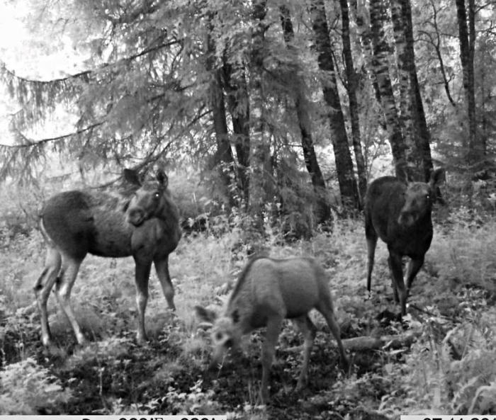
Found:
<path fill-rule="evenodd" d="M 337 341 L 342 365 L 347 369 L 349 363 L 334 318 L 327 276 L 313 259 L 252 259 L 240 274 L 222 317 L 217 318 L 215 312 L 199 306 L 196 312 L 201 319 L 214 322 L 213 363 L 219 363 L 228 348 L 237 346 L 242 335 L 267 327 L 261 357 L 261 399 L 266 402 L 269 399 L 269 371 L 285 318 L 293 319 L 305 337 L 303 367 L 297 389 L 307 382 L 308 361 L 316 331 L 308 317 L 313 308 L 324 315 Z"/>

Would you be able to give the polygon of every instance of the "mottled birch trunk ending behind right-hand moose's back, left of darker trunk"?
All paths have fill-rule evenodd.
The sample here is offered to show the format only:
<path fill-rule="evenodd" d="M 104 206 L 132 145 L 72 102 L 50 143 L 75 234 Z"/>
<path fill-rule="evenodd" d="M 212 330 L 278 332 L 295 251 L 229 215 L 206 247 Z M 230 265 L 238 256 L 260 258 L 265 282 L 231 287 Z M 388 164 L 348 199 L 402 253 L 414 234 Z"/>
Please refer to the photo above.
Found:
<path fill-rule="evenodd" d="M 385 115 L 385 123 L 388 127 L 389 142 L 395 167 L 402 162 L 407 162 L 406 144 L 403 138 L 398 108 L 396 108 L 393 96 L 393 86 L 389 75 L 388 57 L 391 54 L 390 47 L 385 40 L 383 20 L 385 18 L 385 6 L 381 0 L 370 0 L 371 13 L 371 38 L 373 45 L 372 70 L 376 74 L 379 91 L 381 93 L 381 106 Z"/>

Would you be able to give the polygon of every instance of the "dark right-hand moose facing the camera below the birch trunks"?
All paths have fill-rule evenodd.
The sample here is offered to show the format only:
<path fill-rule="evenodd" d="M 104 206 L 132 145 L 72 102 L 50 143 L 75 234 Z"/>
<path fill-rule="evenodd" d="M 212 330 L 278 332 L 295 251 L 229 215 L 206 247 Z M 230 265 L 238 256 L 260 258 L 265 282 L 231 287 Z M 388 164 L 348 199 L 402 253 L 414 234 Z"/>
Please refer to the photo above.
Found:
<path fill-rule="evenodd" d="M 407 310 L 407 297 L 412 281 L 424 264 L 424 256 L 432 241 L 432 203 L 436 187 L 444 179 L 444 169 L 432 171 L 429 182 L 410 182 L 394 176 L 374 180 L 365 197 L 365 236 L 368 248 L 367 290 L 371 291 L 371 276 L 378 237 L 388 245 L 389 268 L 393 293 L 401 314 Z M 403 281 L 402 257 L 409 256 L 407 285 Z"/>

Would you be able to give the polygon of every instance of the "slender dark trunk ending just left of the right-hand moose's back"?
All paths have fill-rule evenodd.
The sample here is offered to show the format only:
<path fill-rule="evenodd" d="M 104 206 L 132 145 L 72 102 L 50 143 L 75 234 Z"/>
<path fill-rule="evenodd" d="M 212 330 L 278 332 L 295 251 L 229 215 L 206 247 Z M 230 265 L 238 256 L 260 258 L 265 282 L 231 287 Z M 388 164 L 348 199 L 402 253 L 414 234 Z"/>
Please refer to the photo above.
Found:
<path fill-rule="evenodd" d="M 356 89 L 358 82 L 353 64 L 353 56 L 351 55 L 351 41 L 349 38 L 349 9 L 347 0 L 339 0 L 341 5 L 342 19 L 342 40 L 343 40 L 343 55 L 346 67 L 346 90 L 349 98 L 349 115 L 351 119 L 351 137 L 353 140 L 353 149 L 355 152 L 356 171 L 359 176 L 359 196 L 360 206 L 363 207 L 363 198 L 367 190 L 367 173 L 365 169 L 365 161 L 361 150 L 361 135 L 360 135 L 360 119 L 359 119 L 359 103 L 356 101 Z"/>

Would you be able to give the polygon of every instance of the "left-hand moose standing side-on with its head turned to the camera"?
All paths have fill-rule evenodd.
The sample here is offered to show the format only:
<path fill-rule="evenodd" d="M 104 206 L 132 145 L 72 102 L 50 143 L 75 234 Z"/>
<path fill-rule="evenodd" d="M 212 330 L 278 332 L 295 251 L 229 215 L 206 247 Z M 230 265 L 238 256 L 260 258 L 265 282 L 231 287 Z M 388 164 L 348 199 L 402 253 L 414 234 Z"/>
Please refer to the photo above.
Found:
<path fill-rule="evenodd" d="M 156 179 L 141 183 L 131 169 L 124 170 L 124 178 L 134 190 L 130 197 L 96 191 L 66 191 L 45 203 L 40 229 L 47 244 L 47 257 L 34 287 L 45 346 L 51 344 L 47 300 L 54 283 L 57 300 L 78 343 L 85 342 L 71 307 L 70 294 L 86 254 L 135 259 L 138 342 L 147 339 L 145 308 L 152 263 L 169 308 L 174 310 L 169 254 L 176 249 L 181 228 L 179 212 L 167 190 L 168 178 L 160 170 Z"/>

